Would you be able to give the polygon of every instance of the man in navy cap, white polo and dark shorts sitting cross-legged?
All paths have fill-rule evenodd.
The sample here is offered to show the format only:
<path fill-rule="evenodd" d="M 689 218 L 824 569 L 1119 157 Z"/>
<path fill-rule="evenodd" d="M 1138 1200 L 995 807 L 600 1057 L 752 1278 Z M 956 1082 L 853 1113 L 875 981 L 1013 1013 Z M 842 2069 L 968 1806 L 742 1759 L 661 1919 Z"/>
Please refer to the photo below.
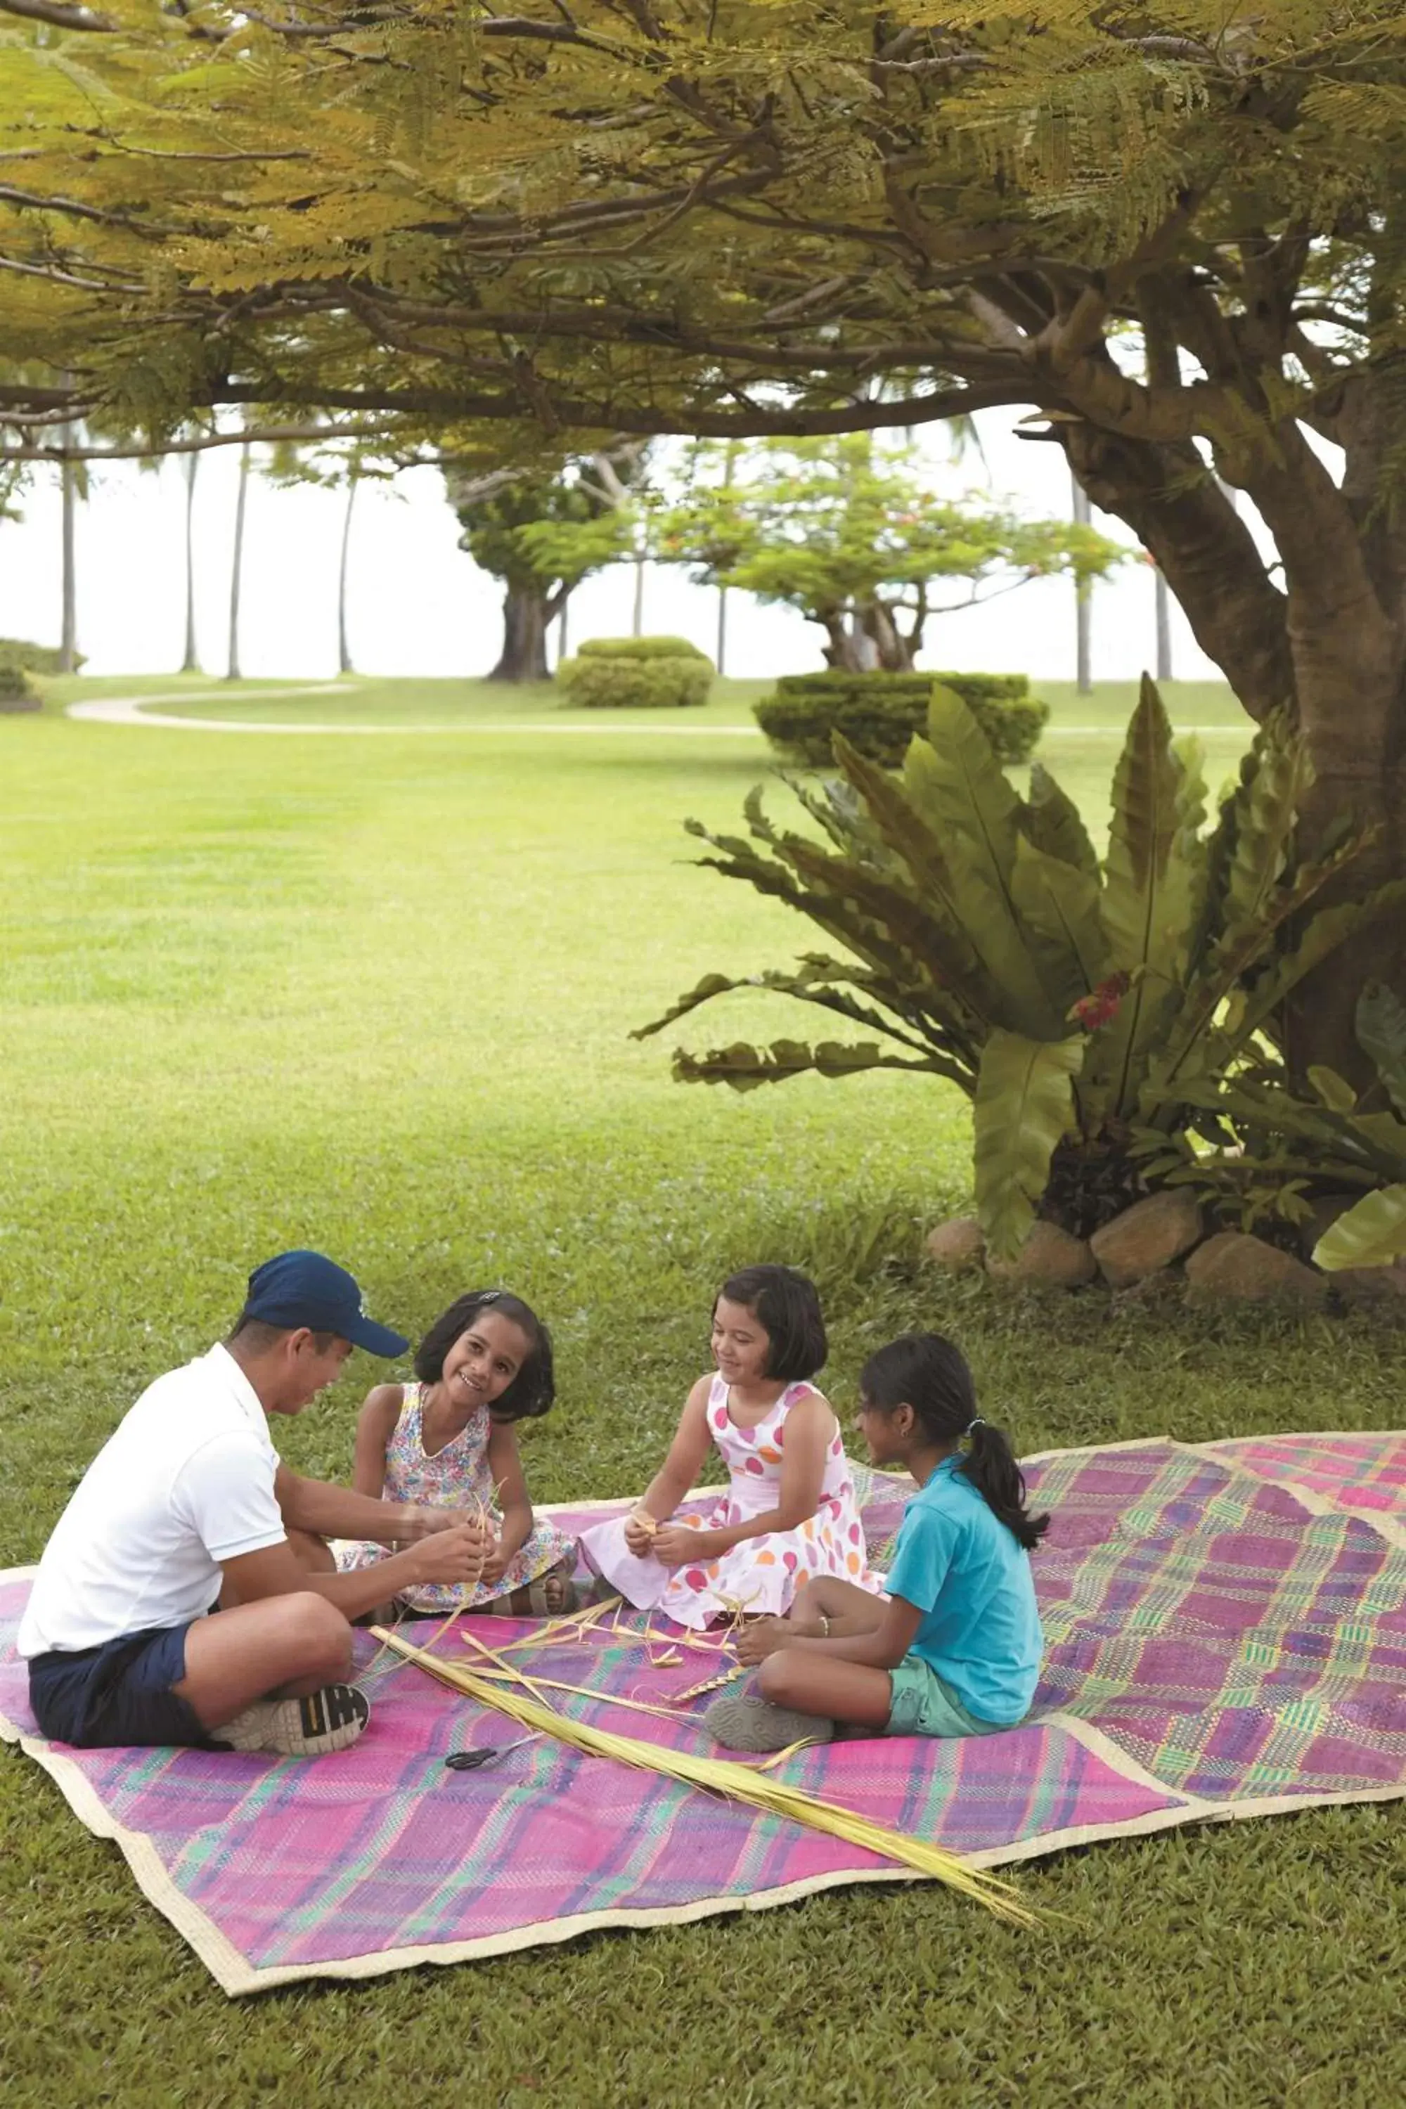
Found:
<path fill-rule="evenodd" d="M 350 1622 L 411 1584 L 476 1582 L 485 1540 L 462 1512 L 278 1462 L 268 1415 L 301 1413 L 352 1348 L 409 1341 L 367 1318 L 344 1268 L 280 1253 L 249 1276 L 230 1337 L 148 1386 L 59 1516 L 19 1628 L 44 1736 L 289 1757 L 360 1736 Z M 333 1535 L 401 1550 L 337 1573 Z"/>

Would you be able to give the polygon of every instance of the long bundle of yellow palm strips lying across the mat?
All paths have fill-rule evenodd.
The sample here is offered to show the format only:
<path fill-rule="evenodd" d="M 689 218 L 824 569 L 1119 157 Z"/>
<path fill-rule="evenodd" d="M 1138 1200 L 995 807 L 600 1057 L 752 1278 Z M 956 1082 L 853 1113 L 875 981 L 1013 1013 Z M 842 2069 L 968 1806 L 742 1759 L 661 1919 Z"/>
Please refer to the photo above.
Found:
<path fill-rule="evenodd" d="M 1037 1923 L 1035 1913 L 1020 1902 L 1010 1883 L 970 1866 L 940 1845 L 904 1837 L 900 1831 L 890 1831 L 885 1824 L 860 1816 L 858 1810 L 845 1810 L 835 1801 L 820 1801 L 818 1795 L 807 1795 L 784 1780 L 761 1778 L 746 1765 L 717 1757 L 694 1757 L 687 1750 L 668 1750 L 660 1744 L 637 1742 L 632 1736 L 613 1736 L 609 1729 L 590 1727 L 586 1721 L 571 1721 L 527 1691 L 489 1683 L 487 1677 L 470 1670 L 468 1664 L 441 1662 L 438 1656 L 428 1656 L 398 1634 L 386 1632 L 379 1626 L 373 1630 L 377 1639 L 388 1641 L 390 1647 L 417 1662 L 428 1677 L 449 1685 L 451 1691 L 462 1691 L 466 1698 L 479 1700 L 481 1706 L 493 1706 L 523 1727 L 556 1736 L 559 1742 L 584 1750 L 588 1757 L 611 1757 L 620 1765 L 658 1772 L 664 1778 L 681 1780 L 685 1786 L 700 1786 L 708 1793 L 725 1795 L 729 1801 L 750 1803 L 750 1807 L 765 1810 L 769 1816 L 784 1816 L 790 1822 L 805 1824 L 809 1831 L 824 1831 L 883 1860 L 896 1860 L 919 1875 L 930 1875 L 961 1896 L 976 1898 L 976 1902 L 1012 1926 Z M 523 1677 L 521 1681 L 531 1687 L 531 1679 Z M 599 1694 L 592 1696 L 599 1698 Z"/>

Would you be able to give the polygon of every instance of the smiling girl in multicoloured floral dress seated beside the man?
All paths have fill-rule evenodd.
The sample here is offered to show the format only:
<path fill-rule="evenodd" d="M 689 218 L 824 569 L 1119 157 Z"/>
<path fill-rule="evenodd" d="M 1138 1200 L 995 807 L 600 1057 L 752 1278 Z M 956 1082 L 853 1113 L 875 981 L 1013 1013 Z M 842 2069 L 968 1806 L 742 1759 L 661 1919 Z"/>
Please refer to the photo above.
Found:
<path fill-rule="evenodd" d="M 422 1582 L 415 1611 L 502 1611 L 546 1618 L 575 1609 L 575 1540 L 538 1523 L 527 1499 L 514 1421 L 554 1398 L 552 1339 L 519 1297 L 476 1289 L 434 1320 L 415 1350 L 417 1384 L 377 1384 L 356 1421 L 352 1485 L 384 1502 L 485 1508 L 493 1542 L 476 1584 Z M 341 1542 L 337 1567 L 371 1567 L 388 1546 Z"/>

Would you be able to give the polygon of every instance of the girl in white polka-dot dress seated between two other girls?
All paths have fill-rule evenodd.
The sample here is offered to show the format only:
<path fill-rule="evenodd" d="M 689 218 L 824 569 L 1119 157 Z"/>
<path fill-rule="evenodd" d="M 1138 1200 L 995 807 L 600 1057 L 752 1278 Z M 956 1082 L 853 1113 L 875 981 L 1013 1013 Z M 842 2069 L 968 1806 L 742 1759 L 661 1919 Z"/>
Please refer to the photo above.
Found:
<path fill-rule="evenodd" d="M 879 1590 L 839 1421 L 809 1381 L 826 1339 L 814 1282 L 746 1268 L 712 1308 L 717 1375 L 689 1392 L 639 1508 L 582 1535 L 586 1563 L 626 1603 L 700 1630 L 738 1609 L 780 1618 L 812 1575 Z M 712 1445 L 725 1493 L 687 1502 Z"/>

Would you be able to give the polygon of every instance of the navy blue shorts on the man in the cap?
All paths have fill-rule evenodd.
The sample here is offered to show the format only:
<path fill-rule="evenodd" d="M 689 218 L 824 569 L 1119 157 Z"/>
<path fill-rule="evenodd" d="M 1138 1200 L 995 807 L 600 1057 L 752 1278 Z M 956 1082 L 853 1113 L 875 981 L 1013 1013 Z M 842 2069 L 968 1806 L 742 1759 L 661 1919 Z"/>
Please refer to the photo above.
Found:
<path fill-rule="evenodd" d="M 185 1634 L 194 1624 L 34 1656 L 30 1706 L 44 1736 L 78 1750 L 116 1742 L 209 1748 L 194 1706 L 171 1689 L 185 1675 Z"/>

